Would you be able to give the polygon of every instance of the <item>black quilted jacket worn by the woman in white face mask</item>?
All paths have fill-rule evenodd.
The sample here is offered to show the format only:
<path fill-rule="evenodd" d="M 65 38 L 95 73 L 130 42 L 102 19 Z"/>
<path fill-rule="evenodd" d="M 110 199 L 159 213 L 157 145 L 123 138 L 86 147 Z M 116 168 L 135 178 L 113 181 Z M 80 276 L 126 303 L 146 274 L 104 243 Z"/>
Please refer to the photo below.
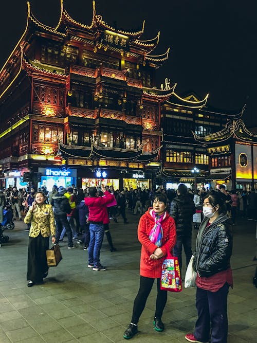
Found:
<path fill-rule="evenodd" d="M 201 222 L 196 238 L 193 268 L 199 276 L 209 277 L 230 267 L 232 232 L 230 219 L 221 214 L 208 227 L 209 218 Z"/>

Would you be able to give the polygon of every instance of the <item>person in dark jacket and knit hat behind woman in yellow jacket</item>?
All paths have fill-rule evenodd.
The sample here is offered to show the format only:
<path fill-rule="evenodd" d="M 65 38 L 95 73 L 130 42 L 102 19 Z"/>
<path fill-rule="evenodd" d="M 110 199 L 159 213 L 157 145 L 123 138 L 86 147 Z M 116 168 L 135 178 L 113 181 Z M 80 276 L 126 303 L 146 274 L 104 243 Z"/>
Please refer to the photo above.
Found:
<path fill-rule="evenodd" d="M 72 232 L 67 220 L 67 213 L 70 213 L 71 208 L 67 197 L 64 195 L 66 192 L 66 188 L 60 186 L 58 193 L 52 197 L 51 205 L 54 206 L 54 219 L 56 220 L 56 244 L 59 243 L 63 227 L 65 227 L 68 237 L 68 249 L 73 249 L 76 246 L 73 245 Z"/>

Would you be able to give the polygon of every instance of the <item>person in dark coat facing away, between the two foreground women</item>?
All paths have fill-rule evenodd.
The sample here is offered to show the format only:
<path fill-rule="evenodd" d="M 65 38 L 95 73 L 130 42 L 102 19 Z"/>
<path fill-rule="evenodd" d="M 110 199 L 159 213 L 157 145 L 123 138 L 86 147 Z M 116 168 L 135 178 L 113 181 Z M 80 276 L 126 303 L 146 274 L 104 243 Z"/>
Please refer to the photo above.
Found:
<path fill-rule="evenodd" d="M 192 256 L 192 220 L 195 213 L 195 205 L 188 194 L 188 188 L 180 184 L 177 196 L 171 202 L 170 215 L 175 220 L 177 230 L 177 242 L 174 246 L 174 256 L 177 256 L 180 275 L 182 269 L 182 246 L 185 250 L 187 265 Z"/>

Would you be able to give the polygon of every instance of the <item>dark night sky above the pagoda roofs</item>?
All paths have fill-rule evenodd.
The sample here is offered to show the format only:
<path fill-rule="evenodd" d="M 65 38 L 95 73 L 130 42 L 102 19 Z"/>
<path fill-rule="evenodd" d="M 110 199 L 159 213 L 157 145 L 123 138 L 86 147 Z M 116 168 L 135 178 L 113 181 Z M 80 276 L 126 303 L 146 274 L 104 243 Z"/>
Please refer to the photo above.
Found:
<path fill-rule="evenodd" d="M 31 0 L 31 11 L 42 23 L 56 26 L 60 0 Z M 2 66 L 26 27 L 25 0 L 1 4 Z M 75 20 L 90 24 L 91 0 L 64 0 Z M 257 2 L 248 0 L 96 0 L 96 12 L 110 25 L 136 30 L 145 20 L 140 39 L 152 39 L 160 31 L 153 55 L 171 47 L 169 60 L 157 70 L 158 88 L 165 77 L 177 82 L 176 93 L 194 91 L 221 109 L 237 111 L 247 103 L 243 119 L 257 125 Z"/>

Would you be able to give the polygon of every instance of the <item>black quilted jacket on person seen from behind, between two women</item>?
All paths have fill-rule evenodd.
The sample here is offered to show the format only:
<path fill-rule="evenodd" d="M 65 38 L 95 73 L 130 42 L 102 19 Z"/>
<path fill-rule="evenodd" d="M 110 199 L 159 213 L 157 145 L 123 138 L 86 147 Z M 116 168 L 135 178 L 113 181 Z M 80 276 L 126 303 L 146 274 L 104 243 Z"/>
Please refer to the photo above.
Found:
<path fill-rule="evenodd" d="M 171 202 L 170 216 L 175 220 L 177 236 L 192 231 L 194 202 L 188 194 L 178 195 Z"/>

